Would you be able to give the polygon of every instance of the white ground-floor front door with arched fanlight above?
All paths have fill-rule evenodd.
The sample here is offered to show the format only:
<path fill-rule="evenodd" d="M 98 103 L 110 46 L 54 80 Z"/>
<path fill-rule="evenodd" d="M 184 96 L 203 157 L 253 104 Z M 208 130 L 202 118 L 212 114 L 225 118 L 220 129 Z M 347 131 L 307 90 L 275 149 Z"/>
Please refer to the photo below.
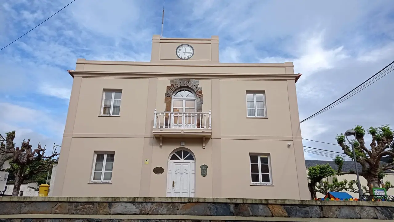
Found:
<path fill-rule="evenodd" d="M 191 151 L 177 149 L 171 153 L 167 167 L 167 197 L 194 197 L 195 166 Z"/>

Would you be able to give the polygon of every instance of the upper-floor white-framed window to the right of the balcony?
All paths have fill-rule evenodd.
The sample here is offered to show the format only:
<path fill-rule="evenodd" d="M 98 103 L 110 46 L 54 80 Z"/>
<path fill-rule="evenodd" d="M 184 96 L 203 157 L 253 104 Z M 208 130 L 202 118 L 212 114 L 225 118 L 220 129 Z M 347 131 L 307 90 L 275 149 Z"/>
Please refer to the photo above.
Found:
<path fill-rule="evenodd" d="M 247 93 L 246 94 L 246 108 L 247 117 L 266 117 L 265 94 L 261 93 Z"/>

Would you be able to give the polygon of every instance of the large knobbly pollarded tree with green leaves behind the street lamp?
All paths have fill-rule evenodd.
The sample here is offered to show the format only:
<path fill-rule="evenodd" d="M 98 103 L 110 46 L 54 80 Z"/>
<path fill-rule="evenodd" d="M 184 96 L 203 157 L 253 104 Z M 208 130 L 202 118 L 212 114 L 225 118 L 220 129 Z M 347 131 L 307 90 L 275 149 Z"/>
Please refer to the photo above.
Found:
<path fill-rule="evenodd" d="M 363 186 L 363 189 L 366 190 L 366 188 L 368 187 L 368 193 L 372 194 L 372 190 L 370 189 L 369 184 L 372 183 L 374 187 L 379 187 L 379 183 L 381 179 L 383 179 L 382 172 L 388 169 L 394 169 L 394 162 L 389 164 L 381 164 L 380 161 L 383 156 L 394 156 L 394 152 L 392 151 L 392 149 L 390 149 L 393 142 L 394 132 L 389 125 L 383 125 L 377 128 L 373 128 L 371 126 L 368 129 L 368 134 L 370 134 L 372 137 L 372 142 L 370 143 L 371 149 L 367 149 L 364 141 L 364 135 L 366 132 L 364 128 L 357 125 L 353 130 L 356 132 L 357 140 L 354 144 L 356 161 L 361 164 L 361 172 L 359 172 L 359 175 L 364 177 L 367 181 L 367 186 Z M 353 151 L 351 150 L 351 145 L 346 144 L 345 135 L 338 134 L 335 138 L 338 144 L 342 147 L 344 153 L 353 160 Z M 340 162 L 336 162 L 336 164 L 338 165 L 340 164 Z M 338 165 L 337 174 L 355 174 L 355 172 L 342 172 L 342 166 Z M 388 185 L 390 186 L 387 188 L 391 188 L 391 184 Z M 351 189 L 350 186 L 349 189 Z M 357 190 L 357 188 L 353 188 L 353 190 Z"/>

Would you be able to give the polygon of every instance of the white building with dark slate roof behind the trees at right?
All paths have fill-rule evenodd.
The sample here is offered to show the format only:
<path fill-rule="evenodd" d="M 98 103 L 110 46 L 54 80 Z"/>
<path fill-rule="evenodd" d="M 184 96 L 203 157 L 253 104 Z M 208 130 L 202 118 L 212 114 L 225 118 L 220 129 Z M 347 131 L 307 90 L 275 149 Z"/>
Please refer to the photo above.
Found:
<path fill-rule="evenodd" d="M 324 164 L 329 164 L 333 169 L 338 170 L 338 166 L 335 164 L 334 161 L 326 161 L 326 160 L 305 160 L 305 166 L 307 167 L 307 174 L 308 174 L 308 168 L 316 165 L 324 165 Z M 358 164 L 359 172 L 361 172 L 361 164 Z M 353 161 L 344 161 L 344 165 L 342 167 L 342 172 L 350 172 L 350 171 L 356 171 L 356 167 L 354 166 Z M 383 183 L 385 181 L 390 181 L 391 184 L 394 184 L 394 171 L 393 170 L 386 170 L 384 171 L 385 177 L 383 178 Z M 357 181 L 357 175 L 355 174 L 346 174 L 346 175 L 340 175 L 340 176 L 333 176 L 333 177 L 327 177 L 324 180 L 328 181 L 331 183 L 333 181 L 333 178 L 336 177 L 338 178 L 338 181 L 342 181 L 346 179 L 347 181 Z M 360 183 L 361 186 L 367 186 L 367 181 L 364 179 L 364 177 L 360 176 Z M 354 185 L 355 188 L 357 188 L 357 183 Z M 354 198 L 358 198 L 359 194 L 358 193 L 353 193 L 353 192 L 348 192 L 351 196 Z M 387 195 L 389 196 L 394 196 L 394 188 L 391 188 L 387 191 Z M 323 198 L 325 195 L 316 193 L 317 198 Z"/>

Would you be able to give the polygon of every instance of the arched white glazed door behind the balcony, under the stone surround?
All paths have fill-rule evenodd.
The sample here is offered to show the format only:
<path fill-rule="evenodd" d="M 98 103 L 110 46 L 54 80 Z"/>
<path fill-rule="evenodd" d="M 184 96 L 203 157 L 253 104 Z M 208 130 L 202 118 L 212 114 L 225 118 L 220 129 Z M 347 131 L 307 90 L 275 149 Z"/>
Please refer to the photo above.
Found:
<path fill-rule="evenodd" d="M 171 112 L 174 112 L 173 126 L 193 128 L 196 124 L 196 96 L 191 90 L 180 89 L 173 93 Z"/>

